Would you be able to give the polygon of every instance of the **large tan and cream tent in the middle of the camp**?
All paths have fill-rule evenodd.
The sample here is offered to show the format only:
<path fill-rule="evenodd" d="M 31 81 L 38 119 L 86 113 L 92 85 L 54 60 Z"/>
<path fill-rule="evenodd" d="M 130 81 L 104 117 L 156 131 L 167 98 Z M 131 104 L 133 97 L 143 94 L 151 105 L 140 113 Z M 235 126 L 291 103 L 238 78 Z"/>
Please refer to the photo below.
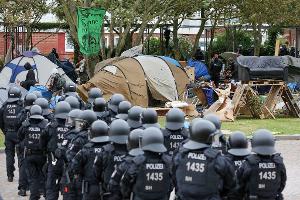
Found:
<path fill-rule="evenodd" d="M 149 100 L 179 100 L 189 79 L 185 71 L 156 56 L 114 58 L 99 63 L 95 76 L 79 87 L 83 97 L 91 87 L 100 88 L 109 98 L 123 94 L 135 105 L 148 106 Z"/>

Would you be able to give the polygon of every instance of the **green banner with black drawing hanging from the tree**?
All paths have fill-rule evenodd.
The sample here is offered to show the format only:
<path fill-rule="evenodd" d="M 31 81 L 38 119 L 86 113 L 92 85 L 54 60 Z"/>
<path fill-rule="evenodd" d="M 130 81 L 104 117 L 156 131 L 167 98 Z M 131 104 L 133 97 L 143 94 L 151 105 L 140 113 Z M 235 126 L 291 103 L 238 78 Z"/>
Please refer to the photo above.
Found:
<path fill-rule="evenodd" d="M 80 51 L 84 55 L 99 53 L 104 16 L 105 10 L 102 8 L 78 8 L 78 40 Z"/>

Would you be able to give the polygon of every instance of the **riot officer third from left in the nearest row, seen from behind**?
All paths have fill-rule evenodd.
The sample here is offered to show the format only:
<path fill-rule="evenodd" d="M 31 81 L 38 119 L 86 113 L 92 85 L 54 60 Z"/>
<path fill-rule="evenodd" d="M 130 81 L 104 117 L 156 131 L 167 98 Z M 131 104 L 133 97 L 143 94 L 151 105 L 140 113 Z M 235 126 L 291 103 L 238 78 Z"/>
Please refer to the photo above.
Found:
<path fill-rule="evenodd" d="M 64 135 L 69 128 L 66 126 L 68 113 L 71 106 L 65 101 L 57 103 L 54 113 L 54 120 L 48 125 L 47 133 L 47 153 L 48 153 L 48 170 L 46 182 L 47 200 L 57 200 L 60 190 L 60 179 L 63 174 L 63 160 L 55 156 L 56 149 L 62 145 Z"/>

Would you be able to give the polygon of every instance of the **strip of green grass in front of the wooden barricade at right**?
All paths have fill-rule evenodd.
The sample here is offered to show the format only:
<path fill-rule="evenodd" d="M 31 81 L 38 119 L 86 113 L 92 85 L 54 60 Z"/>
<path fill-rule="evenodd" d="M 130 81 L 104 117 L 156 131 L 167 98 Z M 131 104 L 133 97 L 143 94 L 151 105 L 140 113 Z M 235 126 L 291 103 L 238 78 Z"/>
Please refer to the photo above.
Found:
<path fill-rule="evenodd" d="M 159 118 L 159 123 L 164 126 L 164 117 Z M 257 129 L 266 128 L 275 134 L 300 134 L 300 119 L 277 118 L 277 119 L 237 119 L 234 122 L 223 122 L 222 129 L 228 131 L 243 131 L 251 134 Z"/>

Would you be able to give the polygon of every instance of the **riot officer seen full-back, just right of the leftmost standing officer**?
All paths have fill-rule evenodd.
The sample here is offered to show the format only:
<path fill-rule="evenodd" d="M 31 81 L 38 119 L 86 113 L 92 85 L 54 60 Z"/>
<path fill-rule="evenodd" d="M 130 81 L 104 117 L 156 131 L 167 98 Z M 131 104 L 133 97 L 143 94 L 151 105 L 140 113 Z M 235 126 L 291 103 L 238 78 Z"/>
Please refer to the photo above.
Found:
<path fill-rule="evenodd" d="M 42 116 L 42 108 L 33 105 L 30 108 L 29 120 L 26 120 L 18 131 L 18 139 L 24 145 L 26 174 L 29 182 L 30 200 L 40 199 L 44 189 L 43 166 L 46 163 L 45 129 L 48 120 Z"/>

